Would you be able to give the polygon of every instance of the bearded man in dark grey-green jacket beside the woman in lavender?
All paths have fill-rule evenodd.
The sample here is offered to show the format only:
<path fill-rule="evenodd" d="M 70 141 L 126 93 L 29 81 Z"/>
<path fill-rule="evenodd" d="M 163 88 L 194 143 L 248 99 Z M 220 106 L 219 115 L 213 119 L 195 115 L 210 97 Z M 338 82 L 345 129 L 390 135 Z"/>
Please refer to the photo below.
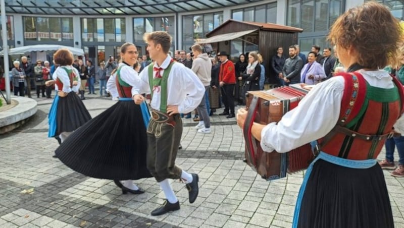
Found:
<path fill-rule="evenodd" d="M 282 69 L 282 79 L 285 85 L 299 83 L 300 71 L 303 67 L 303 62 L 299 56 L 296 55 L 296 47 L 289 46 L 289 58 L 285 60 L 285 65 Z"/>

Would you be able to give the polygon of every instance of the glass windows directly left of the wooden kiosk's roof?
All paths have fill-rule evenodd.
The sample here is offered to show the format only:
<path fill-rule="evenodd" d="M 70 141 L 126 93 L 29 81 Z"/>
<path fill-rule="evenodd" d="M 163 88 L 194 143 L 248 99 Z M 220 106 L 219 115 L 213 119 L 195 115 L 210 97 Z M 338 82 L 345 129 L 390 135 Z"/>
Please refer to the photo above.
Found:
<path fill-rule="evenodd" d="M 206 34 L 223 23 L 223 12 L 185 15 L 182 17 L 182 49 L 188 50 L 195 39 L 206 38 Z"/>

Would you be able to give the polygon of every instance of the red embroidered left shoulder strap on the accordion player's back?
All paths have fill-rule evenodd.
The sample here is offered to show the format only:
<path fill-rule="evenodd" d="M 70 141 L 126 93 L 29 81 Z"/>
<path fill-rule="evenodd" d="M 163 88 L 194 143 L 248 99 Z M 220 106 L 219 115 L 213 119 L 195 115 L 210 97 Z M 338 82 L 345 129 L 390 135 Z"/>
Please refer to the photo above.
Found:
<path fill-rule="evenodd" d="M 321 143 L 318 143 L 315 148 L 316 152 L 320 152 L 321 148 L 325 146 L 335 134 L 342 133 L 340 129 L 344 128 L 346 124 L 358 115 L 366 98 L 366 81 L 361 74 L 341 73 L 339 76 L 344 78 L 344 93 L 341 100 L 339 119 L 336 126 L 324 136 Z M 357 132 L 352 132 L 352 134 L 361 135 Z M 349 134 L 349 136 L 352 136 L 352 134 Z M 366 139 L 367 135 L 364 135 L 363 138 Z M 370 139 L 373 138 L 370 137 Z"/>

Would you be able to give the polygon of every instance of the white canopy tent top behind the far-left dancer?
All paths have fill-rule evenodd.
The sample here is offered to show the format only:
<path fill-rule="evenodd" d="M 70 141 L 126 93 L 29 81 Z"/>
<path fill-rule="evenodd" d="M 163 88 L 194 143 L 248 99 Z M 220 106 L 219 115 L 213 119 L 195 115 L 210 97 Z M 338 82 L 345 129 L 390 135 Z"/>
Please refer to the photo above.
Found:
<path fill-rule="evenodd" d="M 33 52 L 56 51 L 56 50 L 59 50 L 60 48 L 67 48 L 74 55 L 84 56 L 83 49 L 76 48 L 76 47 L 63 46 L 63 45 L 54 45 L 54 44 L 38 44 L 38 45 L 29 45 L 29 46 L 10 48 L 9 55 L 25 54 L 25 53 L 32 52 L 32 51 Z M 0 55 L 4 55 L 3 51 L 0 51 Z"/>

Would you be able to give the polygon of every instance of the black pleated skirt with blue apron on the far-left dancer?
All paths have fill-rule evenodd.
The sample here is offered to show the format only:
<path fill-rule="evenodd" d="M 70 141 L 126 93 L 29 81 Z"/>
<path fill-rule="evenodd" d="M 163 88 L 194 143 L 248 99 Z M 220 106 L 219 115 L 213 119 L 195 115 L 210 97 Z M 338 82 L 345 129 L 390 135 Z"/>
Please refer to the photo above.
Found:
<path fill-rule="evenodd" d="M 55 97 L 52 106 L 49 111 L 49 137 L 72 132 L 91 120 L 83 101 L 73 91 L 66 97 Z"/>

